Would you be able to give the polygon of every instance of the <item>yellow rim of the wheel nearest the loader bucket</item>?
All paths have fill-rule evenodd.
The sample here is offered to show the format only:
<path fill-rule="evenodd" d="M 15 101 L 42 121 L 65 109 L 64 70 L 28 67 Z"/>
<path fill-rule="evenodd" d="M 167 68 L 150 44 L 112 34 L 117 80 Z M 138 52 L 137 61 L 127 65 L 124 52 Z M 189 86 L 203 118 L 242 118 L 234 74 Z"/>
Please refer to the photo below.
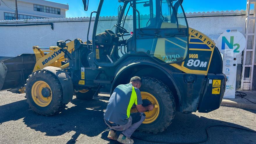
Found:
<path fill-rule="evenodd" d="M 31 95 L 33 98 L 33 101 L 35 104 L 41 107 L 48 106 L 51 103 L 52 99 L 52 93 L 50 94 L 49 97 L 44 97 L 42 95 L 42 89 L 43 88 L 49 88 L 51 91 L 50 86 L 45 82 L 45 81 L 36 81 L 31 89 Z"/>

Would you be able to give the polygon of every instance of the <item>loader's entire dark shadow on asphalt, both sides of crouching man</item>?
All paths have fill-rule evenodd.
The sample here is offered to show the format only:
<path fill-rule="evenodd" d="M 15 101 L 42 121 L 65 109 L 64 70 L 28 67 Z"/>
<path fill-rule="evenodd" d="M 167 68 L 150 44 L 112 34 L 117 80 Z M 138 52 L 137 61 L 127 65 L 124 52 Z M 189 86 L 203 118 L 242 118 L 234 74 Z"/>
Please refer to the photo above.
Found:
<path fill-rule="evenodd" d="M 80 134 L 89 137 L 98 136 L 107 139 L 108 130 L 103 122 L 103 110 L 107 103 L 103 101 L 81 101 L 73 99 L 71 108 L 64 109 L 61 113 L 44 117 L 36 115 L 29 109 L 26 100 L 0 106 L 0 124 L 10 120 L 24 118 L 27 127 L 36 131 L 45 132 L 46 136 L 60 136 L 70 131 L 75 131 L 67 143 L 76 143 Z M 153 141 L 167 142 L 198 142 L 207 138 L 205 129 L 211 125 L 230 125 L 242 127 L 221 120 L 199 117 L 195 114 L 176 113 L 170 127 L 157 135 L 135 132 L 133 136 Z M 147 143 L 135 140 L 136 143 Z M 110 144 L 118 143 L 109 141 Z M 239 129 L 227 127 L 213 127 L 209 129 L 209 141 L 206 143 L 256 143 L 256 134 Z"/>

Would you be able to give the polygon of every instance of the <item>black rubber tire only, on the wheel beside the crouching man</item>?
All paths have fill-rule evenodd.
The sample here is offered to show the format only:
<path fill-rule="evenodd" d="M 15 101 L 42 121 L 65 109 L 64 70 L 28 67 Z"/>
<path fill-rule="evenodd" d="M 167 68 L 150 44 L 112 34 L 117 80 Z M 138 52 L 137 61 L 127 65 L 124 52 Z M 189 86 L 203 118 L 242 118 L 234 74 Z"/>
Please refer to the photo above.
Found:
<path fill-rule="evenodd" d="M 140 91 L 148 92 L 157 99 L 159 103 L 159 116 L 150 124 L 141 124 L 139 131 L 157 134 L 164 131 L 173 121 L 175 116 L 175 99 L 169 88 L 161 81 L 151 77 L 141 77 L 142 86 Z"/>

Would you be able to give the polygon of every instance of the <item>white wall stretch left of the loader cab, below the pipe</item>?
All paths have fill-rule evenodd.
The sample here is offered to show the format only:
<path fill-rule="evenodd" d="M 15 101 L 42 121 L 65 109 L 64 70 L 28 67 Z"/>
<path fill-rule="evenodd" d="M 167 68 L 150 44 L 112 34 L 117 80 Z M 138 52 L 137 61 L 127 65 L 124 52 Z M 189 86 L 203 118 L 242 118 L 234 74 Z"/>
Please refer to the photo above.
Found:
<path fill-rule="evenodd" d="M 58 40 L 86 40 L 87 29 L 88 22 L 58 22 L 54 23 L 54 30 L 50 25 L 0 26 L 0 56 L 13 57 L 22 53 L 33 53 L 33 46 L 55 46 Z"/>

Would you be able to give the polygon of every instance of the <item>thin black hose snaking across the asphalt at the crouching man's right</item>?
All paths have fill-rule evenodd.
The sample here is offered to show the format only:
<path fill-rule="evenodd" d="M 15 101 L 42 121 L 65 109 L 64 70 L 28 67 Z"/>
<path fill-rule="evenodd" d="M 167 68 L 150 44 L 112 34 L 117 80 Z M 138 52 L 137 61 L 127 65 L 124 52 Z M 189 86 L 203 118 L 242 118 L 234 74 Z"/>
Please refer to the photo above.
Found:
<path fill-rule="evenodd" d="M 198 143 L 204 143 L 206 141 L 209 140 L 209 133 L 208 133 L 208 129 L 211 128 L 211 127 L 232 127 L 232 126 L 227 126 L 227 125 L 214 125 L 214 126 L 209 126 L 205 129 L 206 131 L 206 134 L 207 134 L 207 139 L 203 140 L 203 141 L 200 141 L 200 142 L 193 142 L 193 143 L 173 143 L 173 142 L 163 142 L 163 141 L 150 141 L 150 140 L 145 140 L 143 138 L 138 138 L 138 137 L 135 137 L 135 136 L 131 136 L 131 138 L 134 138 L 134 139 L 137 139 L 137 140 L 140 140 L 140 141 L 145 141 L 145 142 L 149 142 L 149 143 L 165 143 L 165 144 L 198 144 Z M 243 128 L 239 128 L 239 127 L 232 127 L 232 128 L 235 128 L 235 129 L 241 129 L 241 130 L 245 130 L 245 131 L 249 131 L 249 132 L 256 132 L 256 131 L 253 131 L 253 130 L 250 130 L 250 129 L 243 129 Z"/>

